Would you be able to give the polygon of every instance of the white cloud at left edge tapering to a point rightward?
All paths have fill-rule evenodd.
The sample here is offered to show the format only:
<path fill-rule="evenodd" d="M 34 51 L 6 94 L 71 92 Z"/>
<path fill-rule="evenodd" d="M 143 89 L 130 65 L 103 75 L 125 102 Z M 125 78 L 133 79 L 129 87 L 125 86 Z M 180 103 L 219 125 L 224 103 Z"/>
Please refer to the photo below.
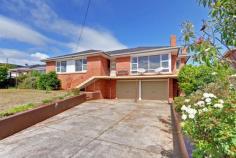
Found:
<path fill-rule="evenodd" d="M 14 39 L 34 45 L 45 45 L 48 42 L 53 42 L 53 40 L 30 27 L 4 16 L 0 16 L 0 38 Z"/>

